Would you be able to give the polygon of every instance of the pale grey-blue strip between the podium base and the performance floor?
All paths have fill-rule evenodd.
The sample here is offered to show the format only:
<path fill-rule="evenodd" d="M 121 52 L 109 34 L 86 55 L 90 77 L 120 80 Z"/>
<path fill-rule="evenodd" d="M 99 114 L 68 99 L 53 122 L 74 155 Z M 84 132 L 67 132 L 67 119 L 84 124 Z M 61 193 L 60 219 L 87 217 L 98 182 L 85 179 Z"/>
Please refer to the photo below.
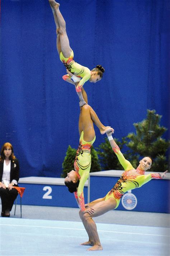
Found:
<path fill-rule="evenodd" d="M 15 205 L 10 212 L 11 217 L 20 218 L 20 205 L 16 205 L 15 216 L 14 208 Z M 22 218 L 60 221 L 81 221 L 78 208 L 33 205 L 22 205 Z M 94 220 L 96 223 L 170 227 L 170 214 L 164 213 L 113 210 L 105 213 L 104 215 L 94 218 Z"/>

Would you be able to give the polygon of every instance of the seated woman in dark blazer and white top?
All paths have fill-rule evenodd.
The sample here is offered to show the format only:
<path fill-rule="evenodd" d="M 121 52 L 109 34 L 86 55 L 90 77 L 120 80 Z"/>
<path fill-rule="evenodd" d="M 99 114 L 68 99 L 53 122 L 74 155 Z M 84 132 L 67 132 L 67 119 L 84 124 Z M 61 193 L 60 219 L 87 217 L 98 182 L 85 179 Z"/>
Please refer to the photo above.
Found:
<path fill-rule="evenodd" d="M 18 196 L 19 162 L 14 156 L 13 146 L 6 142 L 1 148 L 0 156 L 0 197 L 2 217 L 9 217 L 14 201 Z"/>

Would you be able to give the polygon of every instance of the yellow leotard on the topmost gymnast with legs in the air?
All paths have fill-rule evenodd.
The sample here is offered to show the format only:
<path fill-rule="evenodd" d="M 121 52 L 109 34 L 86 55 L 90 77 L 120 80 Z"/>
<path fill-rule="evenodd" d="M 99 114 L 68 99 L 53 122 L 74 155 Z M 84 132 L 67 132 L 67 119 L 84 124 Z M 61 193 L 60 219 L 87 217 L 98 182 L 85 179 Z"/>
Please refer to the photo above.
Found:
<path fill-rule="evenodd" d="M 83 86 L 83 84 L 88 81 L 91 77 L 90 69 L 78 64 L 73 60 L 74 53 L 71 51 L 71 55 L 69 58 L 65 58 L 62 54 L 62 51 L 60 52 L 60 60 L 65 65 L 66 69 L 68 69 L 71 73 L 73 73 L 75 76 L 80 76 L 82 79 L 79 82 L 79 87 Z"/>

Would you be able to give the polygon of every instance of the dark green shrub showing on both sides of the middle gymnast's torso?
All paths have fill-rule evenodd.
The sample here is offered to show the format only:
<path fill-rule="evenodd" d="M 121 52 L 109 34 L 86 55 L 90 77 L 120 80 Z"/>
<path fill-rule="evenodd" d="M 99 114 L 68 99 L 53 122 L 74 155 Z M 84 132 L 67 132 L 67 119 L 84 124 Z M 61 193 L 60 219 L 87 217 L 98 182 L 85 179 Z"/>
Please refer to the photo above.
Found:
<path fill-rule="evenodd" d="M 65 159 L 62 163 L 62 174 L 61 177 L 65 178 L 67 176 L 67 173 L 69 173 L 71 170 L 74 170 L 74 160 L 76 156 L 76 149 L 72 148 L 70 145 L 67 148 Z M 96 150 L 94 147 L 91 147 L 91 169 L 90 172 L 99 172 L 101 171 L 99 158 Z"/>

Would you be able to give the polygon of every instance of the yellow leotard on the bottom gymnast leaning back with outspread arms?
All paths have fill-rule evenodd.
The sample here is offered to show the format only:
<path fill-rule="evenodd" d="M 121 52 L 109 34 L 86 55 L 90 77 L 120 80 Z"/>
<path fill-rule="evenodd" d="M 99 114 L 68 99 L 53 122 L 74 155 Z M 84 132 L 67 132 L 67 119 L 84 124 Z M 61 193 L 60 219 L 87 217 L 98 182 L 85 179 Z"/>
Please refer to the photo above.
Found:
<path fill-rule="evenodd" d="M 118 207 L 121 197 L 125 192 L 131 189 L 140 188 L 143 184 L 147 183 L 151 179 L 161 179 L 159 174 L 150 173 L 145 175 L 145 171 L 137 168 L 134 169 L 131 163 L 126 160 L 121 153 L 119 147 L 114 147 L 113 151 L 118 157 L 119 162 L 123 166 L 125 172 L 122 174 L 121 178 L 117 181 L 115 186 L 107 193 L 105 201 L 110 197 L 113 197 L 117 205 L 115 209 Z"/>

